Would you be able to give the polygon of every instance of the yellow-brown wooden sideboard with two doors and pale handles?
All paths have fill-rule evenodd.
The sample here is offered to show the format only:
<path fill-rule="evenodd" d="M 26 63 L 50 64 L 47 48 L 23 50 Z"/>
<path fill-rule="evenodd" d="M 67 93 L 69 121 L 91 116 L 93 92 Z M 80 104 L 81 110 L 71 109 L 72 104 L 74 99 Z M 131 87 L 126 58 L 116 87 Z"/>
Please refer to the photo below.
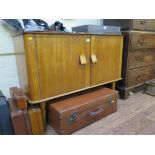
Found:
<path fill-rule="evenodd" d="M 121 79 L 121 35 L 25 32 L 14 46 L 20 87 L 32 102 Z"/>

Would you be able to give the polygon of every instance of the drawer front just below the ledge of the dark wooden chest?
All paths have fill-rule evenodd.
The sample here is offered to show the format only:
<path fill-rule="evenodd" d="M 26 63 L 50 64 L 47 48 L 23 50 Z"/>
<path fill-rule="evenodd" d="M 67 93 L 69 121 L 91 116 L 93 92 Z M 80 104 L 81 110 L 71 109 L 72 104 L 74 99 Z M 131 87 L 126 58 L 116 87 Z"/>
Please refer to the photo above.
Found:
<path fill-rule="evenodd" d="M 131 49 L 155 48 L 155 33 L 132 33 Z"/>

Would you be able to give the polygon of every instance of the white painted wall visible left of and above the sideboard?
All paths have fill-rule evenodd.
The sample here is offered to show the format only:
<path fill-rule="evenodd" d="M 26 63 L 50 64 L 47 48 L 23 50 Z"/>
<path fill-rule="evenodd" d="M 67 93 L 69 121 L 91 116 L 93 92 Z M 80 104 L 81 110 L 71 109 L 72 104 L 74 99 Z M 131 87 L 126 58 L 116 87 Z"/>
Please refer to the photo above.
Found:
<path fill-rule="evenodd" d="M 55 19 L 45 21 L 51 25 L 57 20 L 62 22 L 69 31 L 71 31 L 71 27 L 74 26 L 102 24 L 102 20 L 100 19 Z M 14 45 L 11 32 L 9 32 L 2 23 L 3 22 L 0 20 L 0 53 L 12 53 L 14 52 Z M 9 97 L 9 88 L 12 86 L 19 86 L 15 56 L 0 55 L 0 89 L 3 91 L 4 95 Z"/>

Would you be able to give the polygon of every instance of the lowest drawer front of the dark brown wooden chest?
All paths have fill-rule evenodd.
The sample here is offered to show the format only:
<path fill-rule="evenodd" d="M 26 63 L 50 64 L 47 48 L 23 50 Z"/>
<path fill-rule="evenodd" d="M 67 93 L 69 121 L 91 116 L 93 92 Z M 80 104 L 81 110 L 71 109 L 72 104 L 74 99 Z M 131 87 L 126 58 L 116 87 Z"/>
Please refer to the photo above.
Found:
<path fill-rule="evenodd" d="M 128 73 L 128 87 L 142 84 L 152 79 L 155 79 L 154 65 L 133 69 Z"/>

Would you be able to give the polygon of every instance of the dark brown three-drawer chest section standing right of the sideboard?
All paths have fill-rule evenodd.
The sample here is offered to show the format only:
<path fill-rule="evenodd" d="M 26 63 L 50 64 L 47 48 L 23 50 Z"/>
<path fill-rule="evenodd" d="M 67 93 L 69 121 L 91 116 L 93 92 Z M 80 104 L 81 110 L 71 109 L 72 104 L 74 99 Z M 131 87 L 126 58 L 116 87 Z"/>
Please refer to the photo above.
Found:
<path fill-rule="evenodd" d="M 121 97 L 142 90 L 145 82 L 155 79 L 155 32 L 124 31 L 123 80 L 118 82 Z"/>

